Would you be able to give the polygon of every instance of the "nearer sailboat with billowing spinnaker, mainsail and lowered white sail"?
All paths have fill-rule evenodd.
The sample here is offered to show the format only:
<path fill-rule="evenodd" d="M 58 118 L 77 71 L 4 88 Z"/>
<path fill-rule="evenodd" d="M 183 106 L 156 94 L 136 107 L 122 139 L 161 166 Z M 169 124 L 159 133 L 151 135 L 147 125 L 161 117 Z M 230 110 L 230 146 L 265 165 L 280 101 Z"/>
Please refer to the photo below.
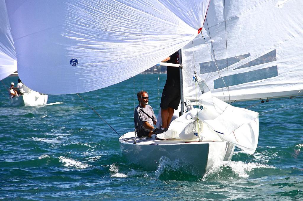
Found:
<path fill-rule="evenodd" d="M 258 113 L 229 103 L 302 94 L 300 0 L 6 5 L 20 78 L 42 93 L 104 88 L 181 49 L 183 114 L 160 140 L 134 132 L 119 138 L 125 159 L 147 169 L 164 157 L 203 177 L 216 162 L 231 160 L 235 146 L 253 154 Z M 185 113 L 185 103 L 196 108 Z"/>

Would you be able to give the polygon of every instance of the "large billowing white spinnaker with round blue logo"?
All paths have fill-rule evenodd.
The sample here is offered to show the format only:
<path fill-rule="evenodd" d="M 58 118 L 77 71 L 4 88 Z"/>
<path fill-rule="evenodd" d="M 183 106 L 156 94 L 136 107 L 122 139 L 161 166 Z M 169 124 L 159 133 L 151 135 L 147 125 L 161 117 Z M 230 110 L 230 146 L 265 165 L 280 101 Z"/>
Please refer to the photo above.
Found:
<path fill-rule="evenodd" d="M 196 37 L 209 1 L 7 0 L 18 74 L 46 94 L 121 82 Z"/>

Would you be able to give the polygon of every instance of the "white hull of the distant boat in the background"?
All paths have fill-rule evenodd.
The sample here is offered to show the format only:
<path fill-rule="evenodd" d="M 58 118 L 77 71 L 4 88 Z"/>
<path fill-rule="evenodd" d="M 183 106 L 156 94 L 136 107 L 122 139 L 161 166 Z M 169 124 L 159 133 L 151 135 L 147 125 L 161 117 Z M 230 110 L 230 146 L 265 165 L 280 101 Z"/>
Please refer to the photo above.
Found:
<path fill-rule="evenodd" d="M 39 106 L 47 103 L 48 95 L 39 93 L 25 93 L 22 96 L 9 99 L 12 106 Z"/>

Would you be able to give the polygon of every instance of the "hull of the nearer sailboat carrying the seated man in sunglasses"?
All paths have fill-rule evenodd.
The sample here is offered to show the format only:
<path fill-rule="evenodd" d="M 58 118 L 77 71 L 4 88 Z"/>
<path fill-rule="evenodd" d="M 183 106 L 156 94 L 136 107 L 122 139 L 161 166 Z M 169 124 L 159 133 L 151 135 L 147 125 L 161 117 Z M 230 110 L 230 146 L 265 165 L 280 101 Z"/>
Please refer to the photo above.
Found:
<path fill-rule="evenodd" d="M 152 140 L 137 138 L 134 144 L 134 132 L 128 132 L 119 138 L 123 157 L 128 163 L 153 171 L 161 157 L 170 161 L 178 160 L 186 166 L 188 172 L 203 177 L 214 164 L 231 160 L 235 146 L 222 141 L 185 142 L 178 139 Z"/>

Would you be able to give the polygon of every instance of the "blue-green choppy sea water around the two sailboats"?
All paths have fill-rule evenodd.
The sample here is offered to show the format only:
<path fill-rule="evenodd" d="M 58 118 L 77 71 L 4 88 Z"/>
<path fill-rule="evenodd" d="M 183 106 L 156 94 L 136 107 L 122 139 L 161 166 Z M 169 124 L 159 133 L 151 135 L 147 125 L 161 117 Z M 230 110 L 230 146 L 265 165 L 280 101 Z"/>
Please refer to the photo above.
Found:
<path fill-rule="evenodd" d="M 148 91 L 158 113 L 166 75 L 137 75 L 80 94 L 119 134 L 133 130 L 134 91 Z M 8 88 L 17 77 L 3 80 Z M 71 86 L 73 87 L 73 86 Z M 76 94 L 49 95 L 43 107 L 10 107 L 0 86 L 0 198 L 5 200 L 303 200 L 303 107 L 259 117 L 254 155 L 235 150 L 198 178 L 162 161 L 156 171 L 129 165 L 118 135 Z M 240 102 L 246 107 L 257 101 Z M 302 98 L 252 107 L 263 112 Z M 194 150 L 193 150 L 194 151 Z"/>

